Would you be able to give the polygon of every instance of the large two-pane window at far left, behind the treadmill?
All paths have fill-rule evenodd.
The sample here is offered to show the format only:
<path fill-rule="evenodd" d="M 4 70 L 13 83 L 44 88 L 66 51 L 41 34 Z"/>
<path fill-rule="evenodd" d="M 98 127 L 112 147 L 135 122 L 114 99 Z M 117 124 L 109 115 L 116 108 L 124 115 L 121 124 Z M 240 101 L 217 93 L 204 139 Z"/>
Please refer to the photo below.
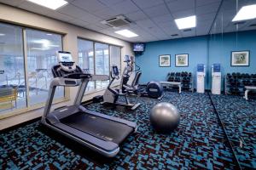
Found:
<path fill-rule="evenodd" d="M 44 105 L 59 50 L 61 35 L 0 23 L 0 114 Z M 62 98 L 58 87 L 55 99 Z"/>

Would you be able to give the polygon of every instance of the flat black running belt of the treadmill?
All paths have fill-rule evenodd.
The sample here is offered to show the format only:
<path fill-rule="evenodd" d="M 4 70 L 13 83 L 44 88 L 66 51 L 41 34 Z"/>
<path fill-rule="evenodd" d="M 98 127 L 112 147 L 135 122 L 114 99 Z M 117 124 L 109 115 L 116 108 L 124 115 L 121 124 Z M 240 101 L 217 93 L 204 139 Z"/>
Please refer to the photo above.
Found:
<path fill-rule="evenodd" d="M 60 121 L 69 127 L 89 133 L 99 139 L 112 141 L 116 144 L 120 144 L 133 131 L 132 127 L 123 123 L 114 122 L 84 112 L 67 116 Z"/>

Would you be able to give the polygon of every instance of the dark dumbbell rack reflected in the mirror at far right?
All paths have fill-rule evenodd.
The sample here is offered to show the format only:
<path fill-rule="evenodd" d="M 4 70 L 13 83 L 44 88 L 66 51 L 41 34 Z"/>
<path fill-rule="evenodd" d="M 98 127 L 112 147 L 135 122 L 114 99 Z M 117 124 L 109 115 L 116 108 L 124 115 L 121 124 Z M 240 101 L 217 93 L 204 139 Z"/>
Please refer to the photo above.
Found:
<path fill-rule="evenodd" d="M 256 74 L 233 72 L 225 76 L 225 94 L 243 95 L 245 86 L 256 86 Z"/>

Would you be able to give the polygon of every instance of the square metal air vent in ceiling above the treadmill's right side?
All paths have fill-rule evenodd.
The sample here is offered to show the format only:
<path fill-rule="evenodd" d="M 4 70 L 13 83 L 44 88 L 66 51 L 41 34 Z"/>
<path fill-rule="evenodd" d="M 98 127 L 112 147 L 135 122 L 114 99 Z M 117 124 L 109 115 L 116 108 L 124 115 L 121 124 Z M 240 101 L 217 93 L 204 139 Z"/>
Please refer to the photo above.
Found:
<path fill-rule="evenodd" d="M 126 19 L 124 16 L 119 15 L 112 19 L 103 20 L 102 24 L 111 26 L 113 28 L 120 28 L 124 26 L 129 26 L 131 24 L 131 21 Z"/>

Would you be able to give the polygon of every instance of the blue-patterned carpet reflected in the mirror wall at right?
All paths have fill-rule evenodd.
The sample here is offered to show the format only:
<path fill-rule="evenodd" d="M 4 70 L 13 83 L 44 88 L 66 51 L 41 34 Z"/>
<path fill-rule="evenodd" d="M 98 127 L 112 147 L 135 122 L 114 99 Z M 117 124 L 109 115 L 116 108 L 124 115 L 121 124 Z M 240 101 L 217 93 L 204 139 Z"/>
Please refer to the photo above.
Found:
<path fill-rule="evenodd" d="M 225 95 L 212 100 L 241 166 L 256 169 L 256 100 Z"/>

